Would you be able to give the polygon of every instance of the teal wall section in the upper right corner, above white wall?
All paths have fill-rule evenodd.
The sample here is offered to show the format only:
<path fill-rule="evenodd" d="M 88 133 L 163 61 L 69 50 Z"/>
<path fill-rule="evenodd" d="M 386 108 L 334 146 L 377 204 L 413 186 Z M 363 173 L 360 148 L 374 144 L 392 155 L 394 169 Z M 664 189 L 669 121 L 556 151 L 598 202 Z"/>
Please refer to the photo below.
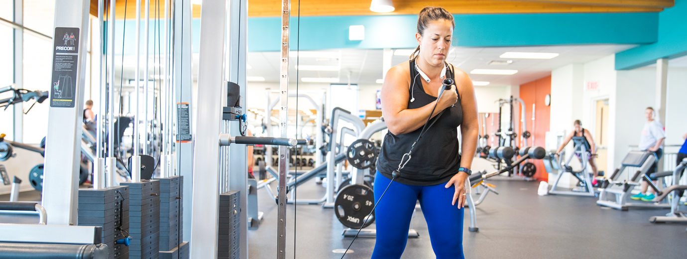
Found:
<path fill-rule="evenodd" d="M 675 6 L 658 16 L 658 41 L 616 54 L 616 70 L 635 69 L 656 62 L 658 58 L 687 55 L 687 0 L 675 0 Z"/>

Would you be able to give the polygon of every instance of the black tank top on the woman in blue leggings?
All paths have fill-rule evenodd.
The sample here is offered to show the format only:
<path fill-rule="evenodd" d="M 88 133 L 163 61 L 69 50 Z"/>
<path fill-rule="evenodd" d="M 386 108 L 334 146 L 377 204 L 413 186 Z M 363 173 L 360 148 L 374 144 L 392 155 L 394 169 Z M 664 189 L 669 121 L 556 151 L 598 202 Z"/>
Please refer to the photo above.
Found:
<path fill-rule="evenodd" d="M 418 76 L 415 62 L 410 61 L 409 64 L 410 82 L 415 85 L 409 87 L 408 91 L 413 91 L 411 94 L 415 101 L 410 102 L 408 100 L 407 109 L 418 109 L 435 101 L 436 97 L 425 93 L 423 78 Z M 453 69 L 448 70 L 446 76 L 454 79 Z M 436 123 L 426 130 L 423 138 L 415 145 L 412 159 L 401 169 L 401 178 L 396 179 L 396 181 L 408 185 L 436 185 L 449 181 L 453 175 L 457 174 L 458 168 L 460 168 L 458 126 L 462 121 L 463 111 L 460 105 L 460 95 L 458 95 L 458 102 L 453 107 L 444 110 Z M 398 169 L 401 157 L 410 150 L 410 146 L 418 139 L 422 128 L 401 135 L 394 135 L 391 132 L 385 135 L 376 164 L 376 168 L 381 174 L 392 179 L 391 173 Z"/>

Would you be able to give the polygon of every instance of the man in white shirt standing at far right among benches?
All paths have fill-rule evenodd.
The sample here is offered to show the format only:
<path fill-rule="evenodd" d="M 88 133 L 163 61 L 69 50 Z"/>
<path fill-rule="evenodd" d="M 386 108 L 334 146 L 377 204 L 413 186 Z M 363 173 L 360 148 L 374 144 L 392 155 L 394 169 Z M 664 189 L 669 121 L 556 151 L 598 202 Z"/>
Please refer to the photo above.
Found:
<path fill-rule="evenodd" d="M 656 156 L 656 161 L 653 166 L 649 168 L 646 174 L 651 174 L 656 172 L 656 165 L 658 160 L 663 156 L 663 140 L 666 138 L 666 132 L 663 129 L 663 125 L 657 120 L 653 120 L 654 111 L 653 108 L 647 107 L 644 110 L 646 115 L 646 124 L 642 128 L 642 135 L 640 136 L 640 149 L 644 151 L 651 151 Z M 633 200 L 651 201 L 655 198 L 653 193 L 647 192 L 649 189 L 649 183 L 642 181 L 642 192 L 637 195 L 631 196 Z M 653 192 L 653 190 L 651 190 Z"/>

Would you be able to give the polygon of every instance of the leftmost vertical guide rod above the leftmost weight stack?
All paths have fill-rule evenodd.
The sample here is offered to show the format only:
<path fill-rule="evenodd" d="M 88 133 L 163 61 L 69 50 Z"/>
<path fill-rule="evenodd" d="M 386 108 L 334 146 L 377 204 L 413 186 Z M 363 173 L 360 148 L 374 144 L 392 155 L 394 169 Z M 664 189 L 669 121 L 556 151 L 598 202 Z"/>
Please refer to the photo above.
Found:
<path fill-rule="evenodd" d="M 105 173 L 105 159 L 104 155 L 102 154 L 102 144 L 104 142 L 102 131 L 104 130 L 102 126 L 102 122 L 104 115 L 107 114 L 105 111 L 105 98 L 104 98 L 104 91 L 105 91 L 105 83 L 104 83 L 104 78 L 102 77 L 102 69 L 103 69 L 103 63 L 102 63 L 102 43 L 103 43 L 103 33 L 102 33 L 102 16 L 103 16 L 103 0 L 98 0 L 98 49 L 96 53 L 98 53 L 98 68 L 100 68 L 100 71 L 98 71 L 98 82 L 99 82 L 99 91 L 98 91 L 98 120 L 96 120 L 95 124 L 95 137 L 98 139 L 95 143 L 95 150 L 96 150 L 96 159 L 93 161 L 93 189 L 99 190 L 105 187 L 104 184 L 104 173 Z"/>

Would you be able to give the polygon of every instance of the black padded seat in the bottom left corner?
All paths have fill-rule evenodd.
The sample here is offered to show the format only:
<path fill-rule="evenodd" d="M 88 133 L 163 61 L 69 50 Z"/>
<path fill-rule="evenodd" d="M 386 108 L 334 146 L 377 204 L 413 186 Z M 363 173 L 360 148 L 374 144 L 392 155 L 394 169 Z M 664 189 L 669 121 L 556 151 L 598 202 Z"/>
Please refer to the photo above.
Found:
<path fill-rule="evenodd" d="M 0 243 L 0 259 L 106 259 L 107 245 Z"/>

